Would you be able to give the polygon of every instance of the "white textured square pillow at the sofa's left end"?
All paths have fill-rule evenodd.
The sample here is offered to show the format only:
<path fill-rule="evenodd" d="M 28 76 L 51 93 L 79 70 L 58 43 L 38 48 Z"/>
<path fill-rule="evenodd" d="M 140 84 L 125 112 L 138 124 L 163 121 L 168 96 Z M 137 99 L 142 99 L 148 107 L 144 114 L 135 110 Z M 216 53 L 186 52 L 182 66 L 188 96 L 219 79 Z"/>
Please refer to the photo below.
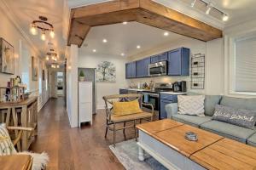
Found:
<path fill-rule="evenodd" d="M 205 116 L 204 95 L 178 95 L 177 106 L 178 114 Z"/>

